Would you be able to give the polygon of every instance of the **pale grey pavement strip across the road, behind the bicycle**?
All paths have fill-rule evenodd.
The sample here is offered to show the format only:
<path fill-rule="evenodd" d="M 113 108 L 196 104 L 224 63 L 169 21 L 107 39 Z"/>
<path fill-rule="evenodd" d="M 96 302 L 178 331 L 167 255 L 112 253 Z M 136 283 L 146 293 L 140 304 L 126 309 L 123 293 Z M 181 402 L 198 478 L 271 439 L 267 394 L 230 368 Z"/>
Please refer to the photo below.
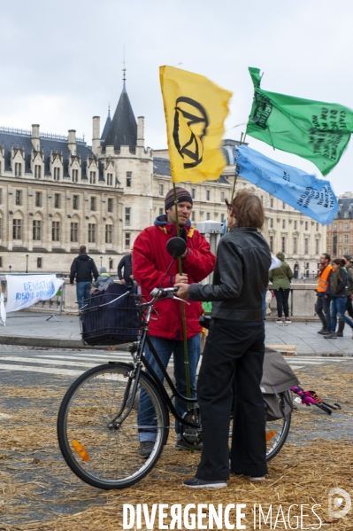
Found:
<path fill-rule="evenodd" d="M 34 347 L 82 348 L 79 316 L 58 316 L 58 321 L 48 316 L 28 313 L 26 317 L 8 319 L 0 326 L 0 344 Z M 319 323 L 291 323 L 288 325 L 266 321 L 266 343 L 296 345 L 298 355 L 353 355 L 352 331 L 346 324 L 344 337 L 325 340 L 318 335 Z M 88 347 L 85 347 L 88 349 Z M 123 350 L 124 347 L 119 347 Z"/>

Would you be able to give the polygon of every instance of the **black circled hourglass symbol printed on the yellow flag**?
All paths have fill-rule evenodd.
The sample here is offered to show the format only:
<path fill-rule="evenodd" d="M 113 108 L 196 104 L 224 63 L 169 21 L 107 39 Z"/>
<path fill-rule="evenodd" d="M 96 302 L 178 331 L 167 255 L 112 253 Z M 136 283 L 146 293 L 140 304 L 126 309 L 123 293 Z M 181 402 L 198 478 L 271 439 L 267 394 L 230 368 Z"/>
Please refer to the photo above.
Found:
<path fill-rule="evenodd" d="M 175 102 L 173 139 L 184 168 L 195 168 L 203 160 L 203 137 L 209 119 L 203 105 L 180 96 Z"/>

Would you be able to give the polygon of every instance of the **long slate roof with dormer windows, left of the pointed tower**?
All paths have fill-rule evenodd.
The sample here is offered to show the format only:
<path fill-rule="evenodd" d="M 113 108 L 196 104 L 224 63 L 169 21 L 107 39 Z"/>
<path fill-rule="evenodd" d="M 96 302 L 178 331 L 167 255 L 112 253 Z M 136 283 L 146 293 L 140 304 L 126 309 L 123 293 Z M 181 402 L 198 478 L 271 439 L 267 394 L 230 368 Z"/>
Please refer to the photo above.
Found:
<path fill-rule="evenodd" d="M 12 132 L 14 131 L 14 132 Z M 53 135 L 46 135 L 41 137 L 40 150 L 44 152 L 44 175 L 50 176 L 50 153 L 58 152 L 63 153 L 63 166 L 64 166 L 64 175 L 63 177 L 69 178 L 69 156 L 70 150 L 67 145 L 67 139 L 65 137 L 59 137 Z M 25 150 L 25 171 L 24 174 L 32 174 L 31 170 L 31 153 L 32 153 L 32 136 L 29 131 L 19 131 L 16 132 L 16 129 L 6 129 L 0 128 L 0 146 L 4 146 L 4 170 L 11 171 L 11 152 L 12 146 L 14 148 L 19 147 L 19 149 Z M 87 168 L 87 158 L 94 157 L 94 154 L 91 148 L 83 141 L 76 141 L 76 155 L 81 155 L 81 170 L 82 178 L 87 179 L 86 168 Z"/>

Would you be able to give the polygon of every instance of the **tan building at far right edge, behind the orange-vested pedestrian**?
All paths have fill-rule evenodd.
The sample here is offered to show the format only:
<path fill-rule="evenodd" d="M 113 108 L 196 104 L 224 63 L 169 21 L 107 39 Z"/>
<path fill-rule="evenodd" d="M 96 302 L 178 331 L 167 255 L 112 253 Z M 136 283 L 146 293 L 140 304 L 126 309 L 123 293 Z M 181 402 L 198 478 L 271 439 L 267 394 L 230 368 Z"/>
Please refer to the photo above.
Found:
<path fill-rule="evenodd" d="M 338 197 L 338 207 L 334 223 L 327 229 L 327 253 L 332 258 L 343 254 L 353 255 L 353 193 L 345 191 Z"/>

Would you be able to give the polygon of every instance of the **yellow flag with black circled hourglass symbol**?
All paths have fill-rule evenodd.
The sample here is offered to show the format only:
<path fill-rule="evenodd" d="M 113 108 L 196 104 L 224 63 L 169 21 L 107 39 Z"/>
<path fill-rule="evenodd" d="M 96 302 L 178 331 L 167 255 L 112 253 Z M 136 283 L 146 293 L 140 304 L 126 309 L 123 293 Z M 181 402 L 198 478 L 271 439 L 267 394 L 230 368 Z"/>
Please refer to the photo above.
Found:
<path fill-rule="evenodd" d="M 160 66 L 173 183 L 216 180 L 226 168 L 224 121 L 232 93 L 203 75 Z"/>

